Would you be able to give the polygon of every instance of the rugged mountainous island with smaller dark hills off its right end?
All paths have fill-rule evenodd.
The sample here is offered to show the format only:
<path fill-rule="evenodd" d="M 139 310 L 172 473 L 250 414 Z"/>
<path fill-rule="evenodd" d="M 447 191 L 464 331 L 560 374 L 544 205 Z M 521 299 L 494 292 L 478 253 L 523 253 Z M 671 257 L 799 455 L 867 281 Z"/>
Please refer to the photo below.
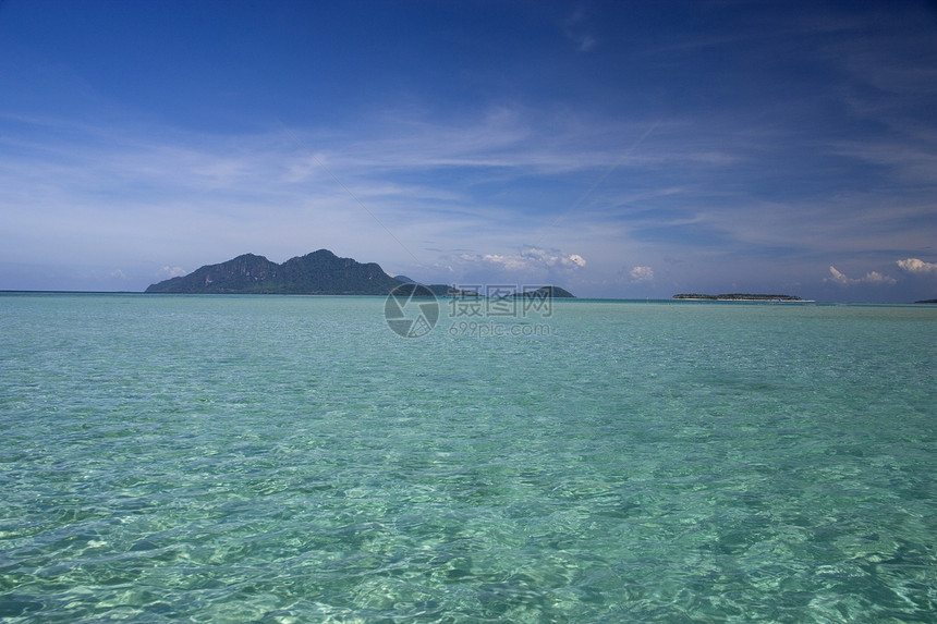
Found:
<path fill-rule="evenodd" d="M 187 276 L 150 284 L 147 293 L 177 294 L 281 294 L 281 295 L 386 295 L 394 287 L 415 283 L 392 278 L 377 262 L 340 258 L 328 249 L 290 258 L 282 265 L 264 256 L 244 254 L 219 265 L 206 265 Z M 426 286 L 436 296 L 480 296 L 447 284 Z M 544 286 L 515 296 L 572 297 L 558 286 Z"/>

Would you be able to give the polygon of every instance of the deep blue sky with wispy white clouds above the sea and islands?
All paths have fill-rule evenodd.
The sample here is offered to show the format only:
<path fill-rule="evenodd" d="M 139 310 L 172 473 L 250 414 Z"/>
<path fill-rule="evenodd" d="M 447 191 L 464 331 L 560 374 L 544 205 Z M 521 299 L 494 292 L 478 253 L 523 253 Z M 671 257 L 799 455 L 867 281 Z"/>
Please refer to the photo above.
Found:
<path fill-rule="evenodd" d="M 0 0 L 0 290 L 937 297 L 927 2 Z"/>

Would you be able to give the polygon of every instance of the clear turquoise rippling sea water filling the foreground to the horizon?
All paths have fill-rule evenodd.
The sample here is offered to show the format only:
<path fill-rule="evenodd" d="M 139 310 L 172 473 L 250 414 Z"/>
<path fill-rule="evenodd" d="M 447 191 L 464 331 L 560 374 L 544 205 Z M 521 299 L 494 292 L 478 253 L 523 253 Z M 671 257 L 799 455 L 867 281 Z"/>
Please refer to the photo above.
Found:
<path fill-rule="evenodd" d="M 0 296 L 0 620 L 937 621 L 937 309 L 384 304 Z"/>

